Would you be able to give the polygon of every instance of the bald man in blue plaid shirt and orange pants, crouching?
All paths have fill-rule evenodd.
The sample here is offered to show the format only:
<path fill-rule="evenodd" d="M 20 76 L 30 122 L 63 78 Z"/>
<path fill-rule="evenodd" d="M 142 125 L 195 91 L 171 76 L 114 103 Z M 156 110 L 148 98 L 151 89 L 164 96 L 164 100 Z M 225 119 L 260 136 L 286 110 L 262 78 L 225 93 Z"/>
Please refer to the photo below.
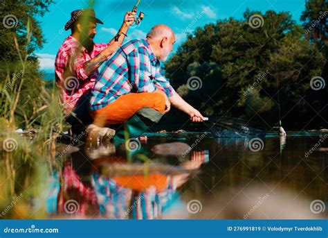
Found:
<path fill-rule="evenodd" d="M 165 25 L 154 26 L 147 38 L 131 40 L 104 63 L 91 96 L 95 126 L 120 124 L 142 108 L 168 112 L 171 104 L 194 122 L 201 113 L 177 94 L 161 74 L 161 62 L 172 51 L 175 36 Z"/>

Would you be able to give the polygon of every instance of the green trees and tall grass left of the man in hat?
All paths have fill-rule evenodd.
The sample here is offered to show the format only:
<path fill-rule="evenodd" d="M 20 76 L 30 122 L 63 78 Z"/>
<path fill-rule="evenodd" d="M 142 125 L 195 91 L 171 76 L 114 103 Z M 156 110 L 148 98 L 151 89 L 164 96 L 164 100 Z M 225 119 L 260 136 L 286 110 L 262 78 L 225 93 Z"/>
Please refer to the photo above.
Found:
<path fill-rule="evenodd" d="M 12 110 L 25 121 L 39 100 L 42 74 L 33 54 L 44 44 L 39 19 L 48 11 L 52 0 L 3 0 L 0 5 L 0 112 L 10 121 Z M 17 100 L 17 106 L 15 101 Z"/>

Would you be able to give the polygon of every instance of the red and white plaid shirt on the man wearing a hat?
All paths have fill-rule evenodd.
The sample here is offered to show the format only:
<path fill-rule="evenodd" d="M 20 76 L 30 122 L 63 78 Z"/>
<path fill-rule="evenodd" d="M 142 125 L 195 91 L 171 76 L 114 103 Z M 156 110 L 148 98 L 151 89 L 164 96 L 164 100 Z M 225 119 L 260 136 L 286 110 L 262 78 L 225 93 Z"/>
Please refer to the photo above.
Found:
<path fill-rule="evenodd" d="M 88 52 L 70 35 L 60 46 L 55 60 L 56 84 L 60 89 L 64 108 L 68 112 L 75 108 L 75 104 L 83 94 L 91 90 L 99 74 L 97 70 L 87 76 L 83 69 L 84 62 L 98 56 L 98 53 L 109 44 L 93 44 L 93 50 Z"/>

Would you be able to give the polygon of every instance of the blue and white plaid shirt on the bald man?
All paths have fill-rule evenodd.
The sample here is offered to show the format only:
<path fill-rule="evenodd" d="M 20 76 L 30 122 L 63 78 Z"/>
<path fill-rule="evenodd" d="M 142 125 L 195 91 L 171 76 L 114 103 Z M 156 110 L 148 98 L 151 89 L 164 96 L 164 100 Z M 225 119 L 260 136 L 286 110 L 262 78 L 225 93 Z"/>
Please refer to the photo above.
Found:
<path fill-rule="evenodd" d="M 104 108 L 119 96 L 131 92 L 154 92 L 156 87 L 168 97 L 170 82 L 161 74 L 161 63 L 147 39 L 131 40 L 104 62 L 91 95 L 91 110 Z"/>

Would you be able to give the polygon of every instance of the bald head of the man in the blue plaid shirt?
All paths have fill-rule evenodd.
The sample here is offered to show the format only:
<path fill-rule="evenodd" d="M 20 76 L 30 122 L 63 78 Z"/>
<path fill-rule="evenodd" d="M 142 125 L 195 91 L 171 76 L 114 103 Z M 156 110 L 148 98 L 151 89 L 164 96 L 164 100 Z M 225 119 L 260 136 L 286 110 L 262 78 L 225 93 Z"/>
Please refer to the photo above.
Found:
<path fill-rule="evenodd" d="M 158 60 L 165 61 L 173 49 L 175 36 L 169 26 L 159 24 L 150 29 L 147 40 Z"/>

